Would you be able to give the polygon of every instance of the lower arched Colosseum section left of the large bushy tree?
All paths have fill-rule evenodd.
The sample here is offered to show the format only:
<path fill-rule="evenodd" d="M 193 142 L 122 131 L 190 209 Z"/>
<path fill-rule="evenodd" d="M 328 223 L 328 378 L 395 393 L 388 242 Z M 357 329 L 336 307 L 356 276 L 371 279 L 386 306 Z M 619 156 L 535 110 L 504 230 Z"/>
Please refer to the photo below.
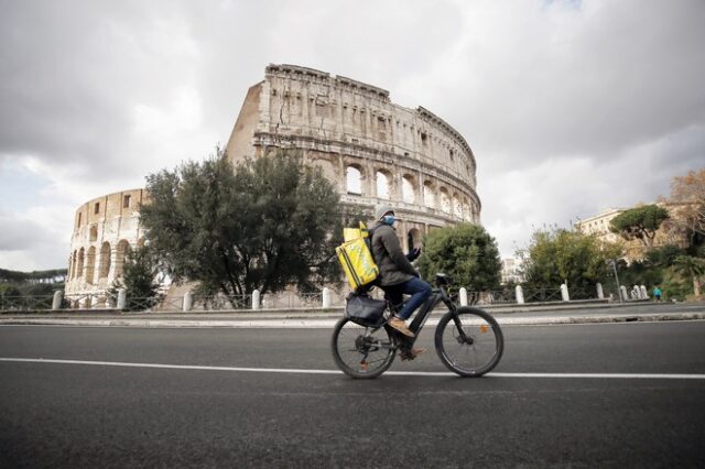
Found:
<path fill-rule="evenodd" d="M 122 275 L 128 250 L 144 242 L 139 206 L 143 189 L 123 190 L 82 205 L 74 217 L 65 294 L 73 307 L 101 306 Z"/>

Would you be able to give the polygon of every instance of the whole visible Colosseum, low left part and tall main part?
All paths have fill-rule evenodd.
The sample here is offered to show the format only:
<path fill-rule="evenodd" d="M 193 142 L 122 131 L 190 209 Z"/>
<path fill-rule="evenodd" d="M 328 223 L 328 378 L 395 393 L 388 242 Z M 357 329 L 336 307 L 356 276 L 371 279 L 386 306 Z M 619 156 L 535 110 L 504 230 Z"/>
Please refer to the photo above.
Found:
<path fill-rule="evenodd" d="M 295 65 L 270 65 L 252 86 L 226 146 L 238 164 L 271 149 L 296 149 L 319 166 L 343 204 L 371 212 L 395 207 L 404 249 L 434 227 L 480 221 L 476 163 L 465 139 L 443 119 L 393 103 L 389 91 Z M 105 303 L 139 244 L 141 189 L 110 194 L 76 211 L 66 296 Z M 88 298 L 88 299 L 82 299 Z M 90 304 L 90 303 L 88 303 Z"/>

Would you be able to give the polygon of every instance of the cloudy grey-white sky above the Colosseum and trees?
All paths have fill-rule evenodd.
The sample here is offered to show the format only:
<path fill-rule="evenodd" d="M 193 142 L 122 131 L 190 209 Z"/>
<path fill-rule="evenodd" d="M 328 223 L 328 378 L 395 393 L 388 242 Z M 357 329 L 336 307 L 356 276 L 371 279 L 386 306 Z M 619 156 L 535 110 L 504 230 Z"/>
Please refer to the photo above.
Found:
<path fill-rule="evenodd" d="M 90 198 L 225 144 L 270 63 L 455 127 L 503 257 L 705 167 L 705 2 L 0 0 L 0 268 L 65 268 Z"/>

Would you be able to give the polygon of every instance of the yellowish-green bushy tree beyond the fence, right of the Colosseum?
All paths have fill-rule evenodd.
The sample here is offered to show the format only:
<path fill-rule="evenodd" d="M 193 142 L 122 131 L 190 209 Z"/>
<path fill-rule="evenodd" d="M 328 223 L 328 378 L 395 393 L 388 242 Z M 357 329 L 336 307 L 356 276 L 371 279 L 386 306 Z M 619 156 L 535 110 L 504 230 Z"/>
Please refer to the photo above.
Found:
<path fill-rule="evenodd" d="M 621 254 L 616 244 L 565 229 L 538 230 L 525 252 L 523 275 L 529 288 L 555 288 L 565 283 L 574 288 L 593 288 L 609 274 L 611 259 Z"/>

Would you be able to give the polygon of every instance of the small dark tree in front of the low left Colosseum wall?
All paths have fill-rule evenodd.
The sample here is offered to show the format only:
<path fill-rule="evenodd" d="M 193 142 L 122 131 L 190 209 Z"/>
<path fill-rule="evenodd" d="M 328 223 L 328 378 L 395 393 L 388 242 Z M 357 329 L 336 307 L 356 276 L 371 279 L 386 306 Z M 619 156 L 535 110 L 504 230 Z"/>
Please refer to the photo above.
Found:
<path fill-rule="evenodd" d="M 131 249 L 124 260 L 122 277 L 112 283 L 108 294 L 113 298 L 119 288 L 127 291 L 126 310 L 149 309 L 161 299 L 160 283 L 156 281 L 160 269 L 149 247 Z"/>

